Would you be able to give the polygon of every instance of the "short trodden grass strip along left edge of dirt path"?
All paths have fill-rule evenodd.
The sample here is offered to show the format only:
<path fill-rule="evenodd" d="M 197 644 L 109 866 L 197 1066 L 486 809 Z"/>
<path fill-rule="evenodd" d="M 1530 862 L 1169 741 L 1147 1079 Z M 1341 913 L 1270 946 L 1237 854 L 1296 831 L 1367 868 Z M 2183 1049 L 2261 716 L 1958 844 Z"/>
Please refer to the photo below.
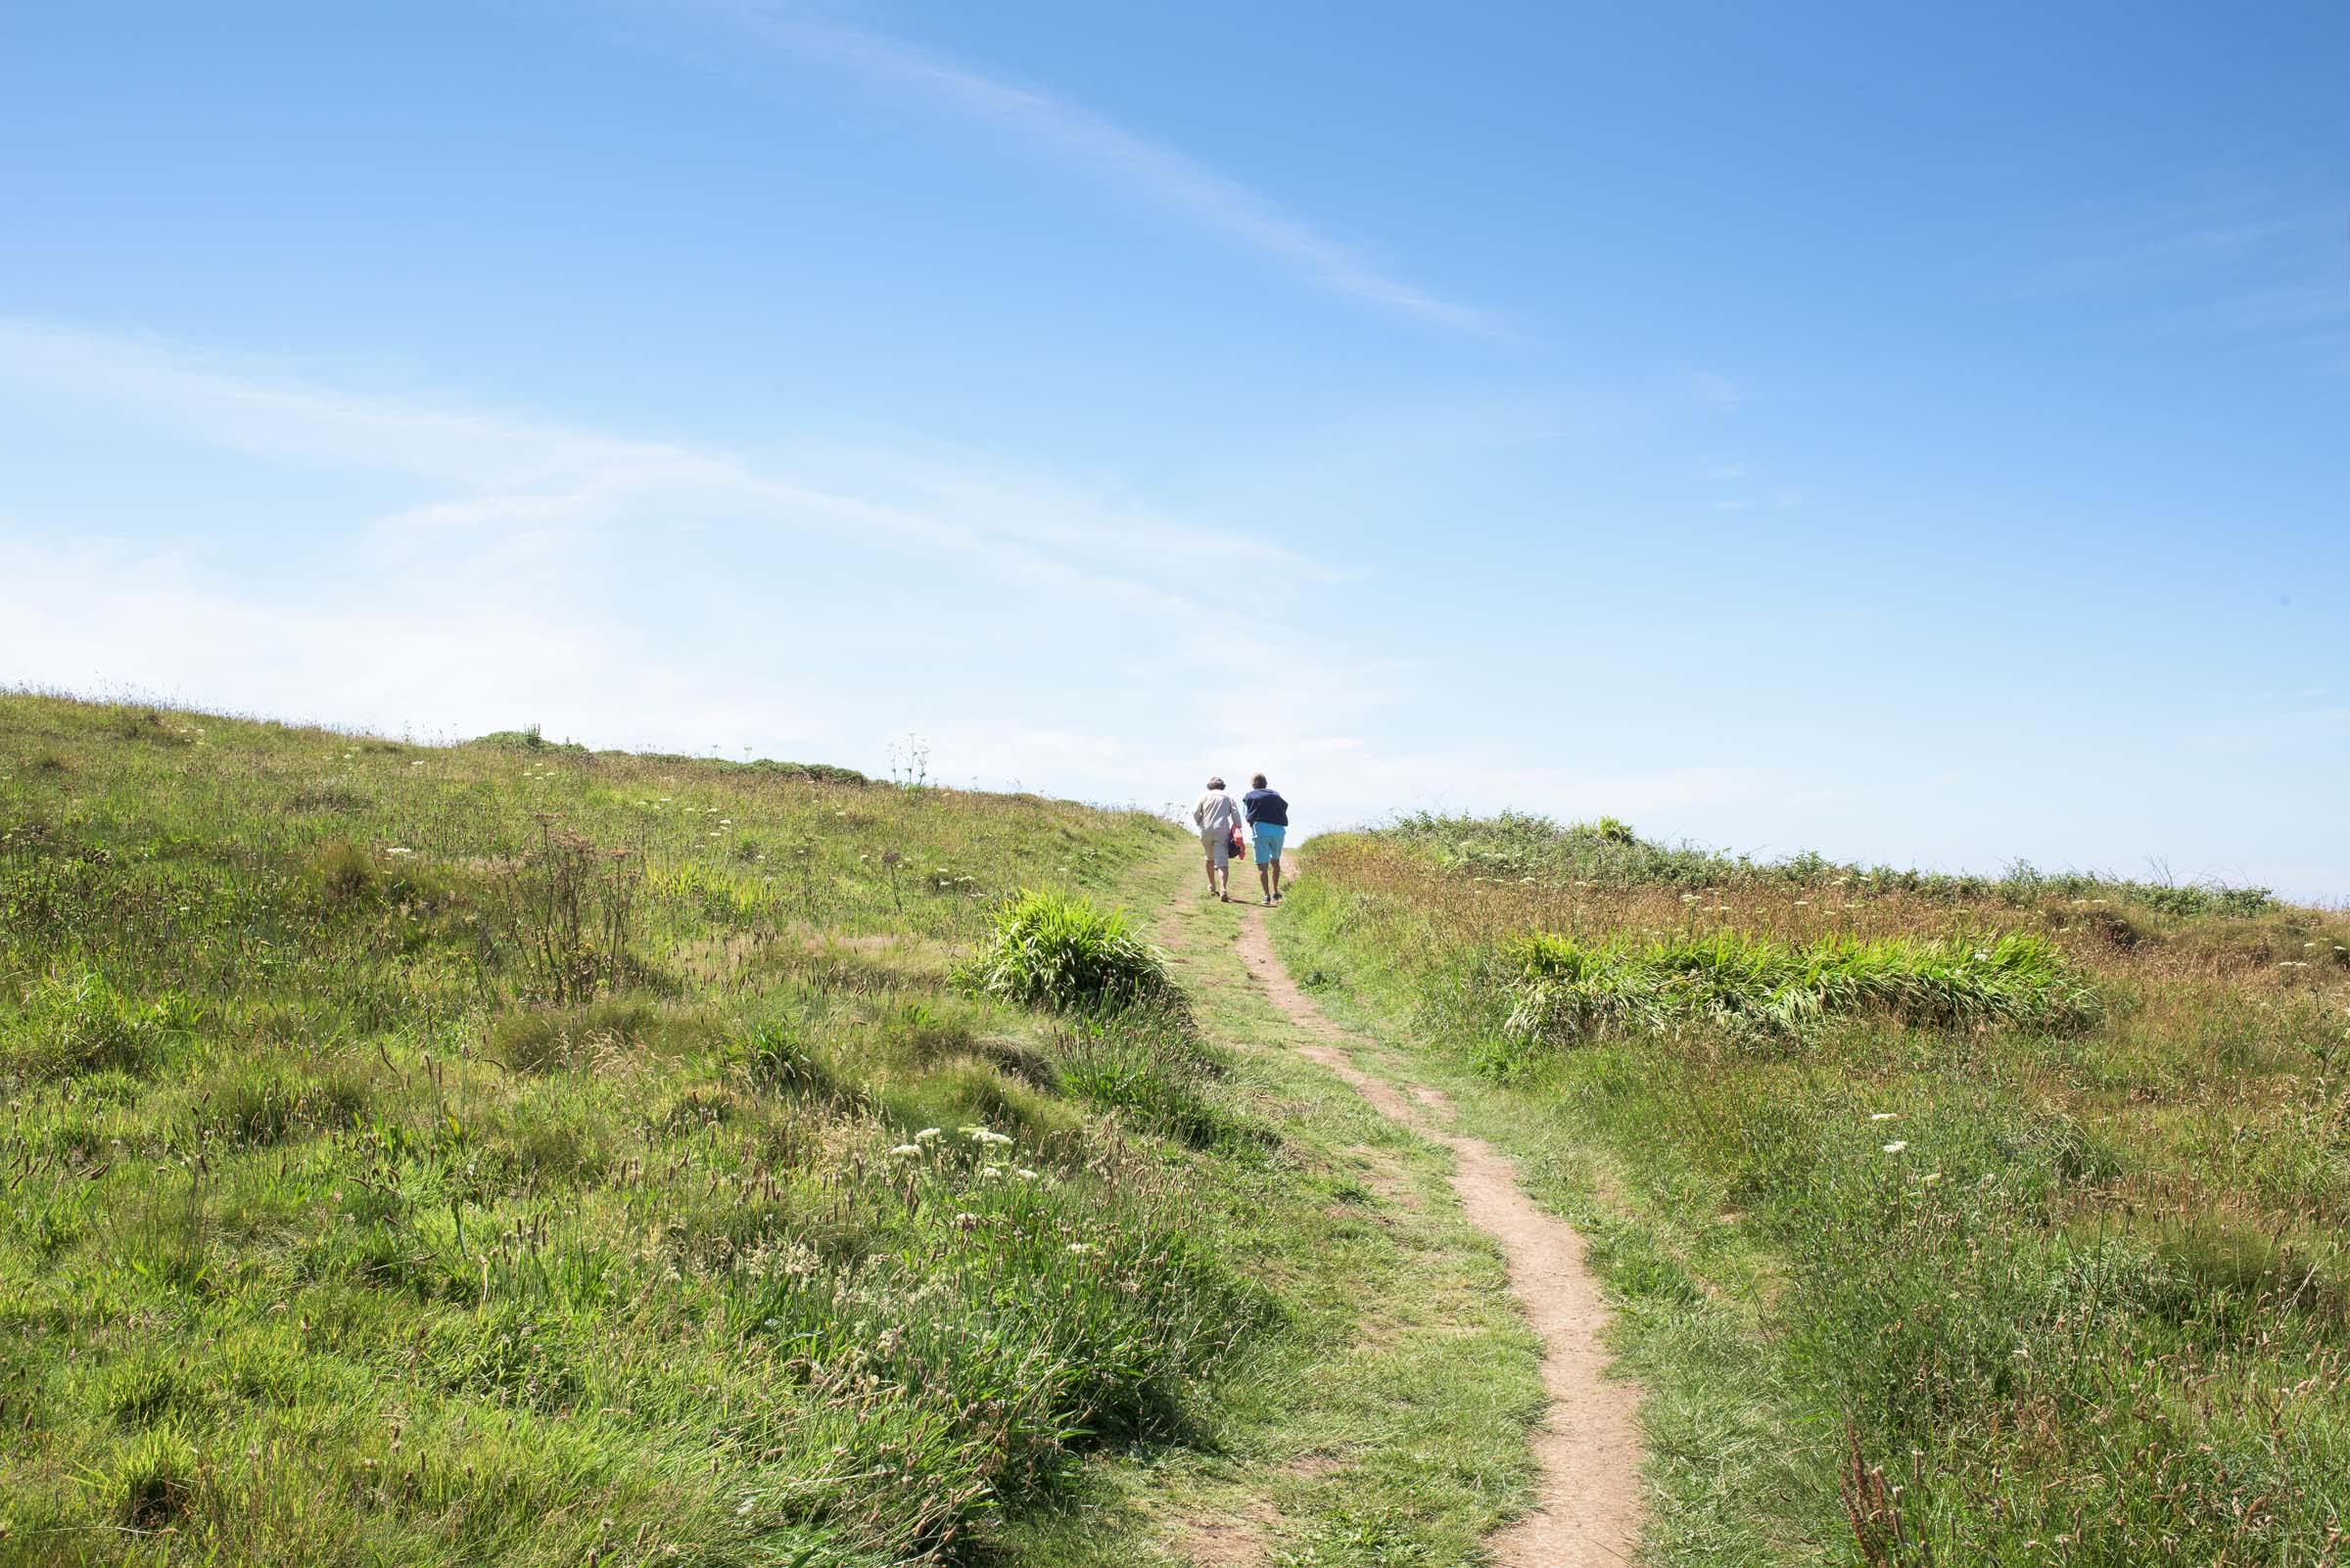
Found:
<path fill-rule="evenodd" d="M 1184 854 L 1189 859 L 1189 854 Z M 1109 1455 L 1013 1533 L 1034 1568 L 1466 1568 L 1532 1495 L 1539 1345 L 1445 1160 L 1295 1054 L 1234 951 L 1238 908 L 1152 920 L 1236 1106 L 1281 1134 L 1213 1223 L 1288 1326 L 1215 1385 L 1196 1448 Z"/>

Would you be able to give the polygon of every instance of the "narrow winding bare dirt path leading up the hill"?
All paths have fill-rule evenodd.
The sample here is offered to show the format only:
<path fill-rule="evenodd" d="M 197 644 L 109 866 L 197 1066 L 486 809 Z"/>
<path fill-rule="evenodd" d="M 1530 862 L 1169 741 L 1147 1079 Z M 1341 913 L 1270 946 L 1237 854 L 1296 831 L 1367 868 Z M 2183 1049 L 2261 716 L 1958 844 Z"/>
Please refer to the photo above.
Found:
<path fill-rule="evenodd" d="M 1633 1420 L 1638 1392 L 1605 1376 L 1600 1331 L 1607 1303 L 1584 1270 L 1584 1239 L 1565 1221 L 1551 1218 L 1518 1190 L 1516 1171 L 1490 1143 L 1445 1131 L 1431 1120 L 1450 1120 L 1436 1089 L 1405 1096 L 1386 1080 L 1354 1066 L 1337 1045 L 1347 1035 L 1330 1023 L 1290 979 L 1264 930 L 1264 911 L 1241 911 L 1241 958 L 1307 1035 L 1300 1054 L 1323 1063 L 1356 1094 L 1419 1136 L 1452 1150 L 1452 1190 L 1469 1221 L 1509 1256 L 1509 1286 L 1542 1336 L 1542 1385 L 1551 1411 L 1535 1434 L 1542 1462 L 1542 1500 L 1532 1514 L 1492 1537 L 1499 1568 L 1612 1568 L 1631 1561 L 1640 1528 L 1640 1434 Z M 1415 1101 L 1417 1096 L 1417 1101 Z"/>

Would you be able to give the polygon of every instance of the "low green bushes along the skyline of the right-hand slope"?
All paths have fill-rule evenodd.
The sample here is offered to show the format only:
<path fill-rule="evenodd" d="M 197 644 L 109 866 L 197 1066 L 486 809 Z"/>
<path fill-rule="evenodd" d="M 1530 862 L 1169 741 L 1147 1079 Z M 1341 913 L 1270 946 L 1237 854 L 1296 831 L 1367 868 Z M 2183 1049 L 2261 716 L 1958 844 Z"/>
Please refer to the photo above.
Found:
<path fill-rule="evenodd" d="M 2256 915 L 2275 906 L 2265 887 L 2141 883 L 2089 871 L 2040 871 L 2014 861 L 2000 876 L 1969 876 L 1894 866 L 1852 866 L 1819 854 L 1758 861 L 1697 845 L 1661 845 L 1614 817 L 1558 824 L 1528 812 L 1499 817 L 1438 817 L 1419 812 L 1389 829 L 1441 864 L 1469 876 L 1532 878 L 1591 887 L 1847 887 L 1906 892 L 1946 904 L 2005 904 L 2026 908 L 2042 899 L 2108 899 L 2169 915 Z"/>

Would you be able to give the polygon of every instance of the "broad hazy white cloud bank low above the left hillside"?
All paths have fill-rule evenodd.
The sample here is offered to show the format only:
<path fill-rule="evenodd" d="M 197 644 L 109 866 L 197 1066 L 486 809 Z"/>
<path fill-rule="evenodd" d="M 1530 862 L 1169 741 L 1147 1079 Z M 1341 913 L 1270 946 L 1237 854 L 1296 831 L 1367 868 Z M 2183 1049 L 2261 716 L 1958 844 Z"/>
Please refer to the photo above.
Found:
<path fill-rule="evenodd" d="M 1114 758 L 1144 742 L 1311 737 L 1410 681 L 1285 596 L 1234 592 L 1238 573 L 1335 575 L 1262 530 L 935 448 L 637 439 L 38 322 L 0 322 L 0 401 L 113 451 L 164 432 L 242 453 L 287 514 L 223 535 L 188 521 L 219 500 L 172 491 L 108 538 L 19 500 L 0 514 L 12 681 L 867 765 L 926 728 L 961 772 L 1116 796 Z M 277 523 L 303 535 L 291 561 L 266 545 Z M 1058 758 L 1083 765 L 1043 772 Z"/>

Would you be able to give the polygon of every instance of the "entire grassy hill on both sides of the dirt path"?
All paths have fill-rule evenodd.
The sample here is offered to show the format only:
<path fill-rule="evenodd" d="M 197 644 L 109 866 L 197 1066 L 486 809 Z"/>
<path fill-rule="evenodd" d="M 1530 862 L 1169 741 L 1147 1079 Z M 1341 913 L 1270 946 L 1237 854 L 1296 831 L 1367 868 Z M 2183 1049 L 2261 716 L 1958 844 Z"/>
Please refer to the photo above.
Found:
<path fill-rule="evenodd" d="M 0 695 L 0 1566 L 1485 1561 L 1539 1343 L 1187 845 Z M 2350 918 L 1307 859 L 1354 1061 L 1593 1242 L 1650 1561 L 2350 1552 Z"/>

